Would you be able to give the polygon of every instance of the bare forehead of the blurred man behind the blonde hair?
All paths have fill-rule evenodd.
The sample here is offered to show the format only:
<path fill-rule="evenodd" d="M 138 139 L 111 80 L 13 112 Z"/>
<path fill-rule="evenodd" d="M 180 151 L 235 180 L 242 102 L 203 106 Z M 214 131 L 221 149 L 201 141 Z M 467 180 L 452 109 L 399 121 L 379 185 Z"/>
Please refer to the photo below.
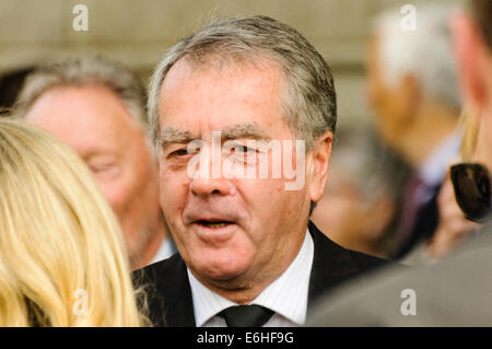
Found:
<path fill-rule="evenodd" d="M 26 120 L 57 136 L 85 158 L 147 146 L 147 135 L 110 90 L 61 86 L 40 95 Z"/>

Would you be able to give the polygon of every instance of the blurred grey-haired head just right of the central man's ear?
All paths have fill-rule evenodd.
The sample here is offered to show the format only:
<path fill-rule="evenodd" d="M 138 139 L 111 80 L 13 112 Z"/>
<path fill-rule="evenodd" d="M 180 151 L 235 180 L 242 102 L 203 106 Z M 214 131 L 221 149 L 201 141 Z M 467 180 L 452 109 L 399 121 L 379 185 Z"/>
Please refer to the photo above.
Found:
<path fill-rule="evenodd" d="M 367 127 L 339 130 L 325 196 L 313 221 L 340 245 L 373 255 L 390 253 L 399 197 L 409 165 Z"/>

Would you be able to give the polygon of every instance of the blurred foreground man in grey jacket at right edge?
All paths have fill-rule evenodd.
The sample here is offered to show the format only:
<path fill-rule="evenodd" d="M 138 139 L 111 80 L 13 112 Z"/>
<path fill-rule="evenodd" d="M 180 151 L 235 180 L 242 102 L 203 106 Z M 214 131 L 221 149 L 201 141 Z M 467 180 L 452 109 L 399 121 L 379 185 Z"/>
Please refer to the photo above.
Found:
<path fill-rule="evenodd" d="M 478 160 L 492 171 L 492 1 L 470 1 L 471 15 L 455 14 L 453 35 L 467 105 L 480 115 Z M 487 175 L 490 183 L 490 175 Z M 487 185 L 485 185 L 487 187 Z M 490 186 L 489 186 L 490 188 Z M 490 193 L 488 193 L 490 196 Z M 489 213 L 491 208 L 489 207 Z M 446 259 L 355 282 L 331 294 L 311 325 L 491 326 L 492 224 Z M 326 306 L 325 306 L 326 305 Z"/>

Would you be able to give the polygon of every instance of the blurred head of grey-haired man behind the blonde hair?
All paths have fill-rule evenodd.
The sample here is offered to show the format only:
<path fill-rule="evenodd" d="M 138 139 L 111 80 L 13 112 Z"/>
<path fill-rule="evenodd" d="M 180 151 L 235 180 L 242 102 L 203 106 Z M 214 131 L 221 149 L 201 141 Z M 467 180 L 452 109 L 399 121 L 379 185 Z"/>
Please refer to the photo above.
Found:
<path fill-rule="evenodd" d="M 131 71 L 95 57 L 37 69 L 17 102 L 21 117 L 56 135 L 92 170 L 134 265 L 160 214 L 144 103 L 144 89 Z"/>

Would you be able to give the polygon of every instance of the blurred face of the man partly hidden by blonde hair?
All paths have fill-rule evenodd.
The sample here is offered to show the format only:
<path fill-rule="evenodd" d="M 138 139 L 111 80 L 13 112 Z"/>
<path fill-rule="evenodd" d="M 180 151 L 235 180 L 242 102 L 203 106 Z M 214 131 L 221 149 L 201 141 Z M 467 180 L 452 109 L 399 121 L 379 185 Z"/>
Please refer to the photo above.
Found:
<path fill-rule="evenodd" d="M 85 161 L 119 219 L 130 257 L 139 255 L 157 224 L 159 186 L 145 135 L 118 96 L 102 85 L 54 88 L 26 119 Z"/>

